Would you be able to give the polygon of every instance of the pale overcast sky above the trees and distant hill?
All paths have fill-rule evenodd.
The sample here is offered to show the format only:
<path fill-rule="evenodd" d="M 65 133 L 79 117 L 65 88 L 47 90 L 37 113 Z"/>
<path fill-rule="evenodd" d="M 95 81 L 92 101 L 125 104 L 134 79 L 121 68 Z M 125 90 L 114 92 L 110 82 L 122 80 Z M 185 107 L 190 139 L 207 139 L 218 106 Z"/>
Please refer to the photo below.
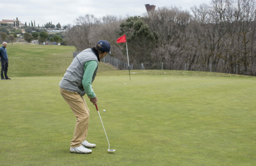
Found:
<path fill-rule="evenodd" d="M 158 7 L 176 6 L 183 10 L 211 0 L 1 0 L 0 21 L 18 17 L 21 23 L 36 22 L 42 26 L 52 24 L 75 24 L 75 19 L 85 14 L 95 17 L 104 15 L 134 16 L 146 13 L 145 4 Z"/>

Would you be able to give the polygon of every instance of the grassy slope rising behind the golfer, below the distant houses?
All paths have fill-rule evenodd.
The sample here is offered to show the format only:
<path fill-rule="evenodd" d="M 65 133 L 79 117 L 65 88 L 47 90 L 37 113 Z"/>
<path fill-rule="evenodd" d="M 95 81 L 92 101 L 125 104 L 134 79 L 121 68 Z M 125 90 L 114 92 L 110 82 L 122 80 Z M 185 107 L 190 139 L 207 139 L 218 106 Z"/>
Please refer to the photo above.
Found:
<path fill-rule="evenodd" d="M 73 46 L 36 45 L 14 43 L 7 46 L 9 77 L 61 76 L 73 60 Z M 115 70 L 110 65 L 99 64 L 99 71 Z"/>

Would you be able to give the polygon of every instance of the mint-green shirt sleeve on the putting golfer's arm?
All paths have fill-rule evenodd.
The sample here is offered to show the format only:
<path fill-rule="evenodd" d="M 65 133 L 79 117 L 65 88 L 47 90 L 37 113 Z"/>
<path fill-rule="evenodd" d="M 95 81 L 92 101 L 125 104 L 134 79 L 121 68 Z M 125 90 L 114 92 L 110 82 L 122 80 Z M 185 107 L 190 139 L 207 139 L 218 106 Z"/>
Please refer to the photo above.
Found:
<path fill-rule="evenodd" d="M 96 94 L 94 93 L 92 89 L 92 76 L 93 73 L 95 72 L 96 68 L 98 66 L 98 63 L 96 60 L 89 60 L 88 62 L 85 62 L 85 65 L 83 66 L 84 69 L 84 74 L 83 74 L 83 89 L 85 90 L 85 93 L 87 96 L 90 98 L 94 98 Z"/>

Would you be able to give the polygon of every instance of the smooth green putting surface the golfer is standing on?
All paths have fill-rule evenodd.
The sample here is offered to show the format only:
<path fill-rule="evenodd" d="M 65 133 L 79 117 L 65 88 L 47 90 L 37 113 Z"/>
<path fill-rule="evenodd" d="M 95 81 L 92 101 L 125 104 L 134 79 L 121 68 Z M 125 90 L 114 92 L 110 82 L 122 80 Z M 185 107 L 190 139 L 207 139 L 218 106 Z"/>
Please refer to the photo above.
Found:
<path fill-rule="evenodd" d="M 11 78 L 0 82 L 0 165 L 256 165 L 255 77 L 99 72 L 93 89 L 116 152 L 85 97 L 88 155 L 69 153 L 76 118 L 62 76 Z"/>

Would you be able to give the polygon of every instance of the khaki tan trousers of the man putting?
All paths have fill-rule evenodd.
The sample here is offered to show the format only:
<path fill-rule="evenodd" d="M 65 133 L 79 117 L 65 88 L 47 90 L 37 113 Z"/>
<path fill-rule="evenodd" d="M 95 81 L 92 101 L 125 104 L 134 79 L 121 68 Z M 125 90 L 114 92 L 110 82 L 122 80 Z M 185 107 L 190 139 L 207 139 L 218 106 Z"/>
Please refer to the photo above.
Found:
<path fill-rule="evenodd" d="M 60 88 L 60 94 L 64 100 L 69 104 L 73 113 L 76 116 L 76 127 L 73 139 L 70 141 L 70 148 L 81 146 L 85 140 L 88 132 L 89 124 L 89 108 L 85 103 L 85 99 L 80 94 Z"/>

